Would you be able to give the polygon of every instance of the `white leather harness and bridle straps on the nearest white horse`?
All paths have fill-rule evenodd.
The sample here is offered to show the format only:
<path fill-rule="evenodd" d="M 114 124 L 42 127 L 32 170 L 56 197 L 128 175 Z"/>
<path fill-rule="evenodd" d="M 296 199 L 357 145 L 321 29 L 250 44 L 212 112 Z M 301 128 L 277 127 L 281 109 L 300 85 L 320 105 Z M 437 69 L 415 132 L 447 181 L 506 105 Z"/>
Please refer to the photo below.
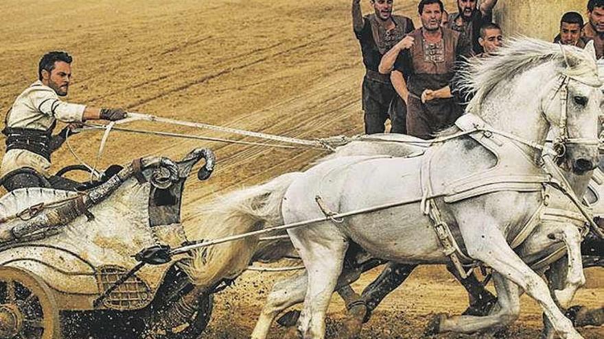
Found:
<path fill-rule="evenodd" d="M 600 142 L 595 139 L 570 138 L 568 136 L 568 82 L 571 78 L 574 79 L 574 77 L 570 75 L 561 75 L 559 78 L 559 86 L 557 86 L 553 95 L 553 97 L 555 97 L 559 92 L 561 97 L 561 118 L 558 126 L 560 134 L 554 143 L 555 155 L 559 157 L 565 155 L 567 144 L 599 145 Z M 577 81 L 581 80 L 577 79 Z M 581 82 L 585 83 L 585 81 Z M 542 110 L 542 114 L 545 114 L 544 112 L 545 111 Z M 467 277 L 467 272 L 463 268 L 461 260 L 472 262 L 472 259 L 463 253 L 459 246 L 459 242 L 453 236 L 450 227 L 442 220 L 441 212 L 439 211 L 434 198 L 429 197 L 443 197 L 443 200 L 446 203 L 453 203 L 455 201 L 504 190 L 542 192 L 542 203 L 518 234 L 515 234 L 511 241 L 511 247 L 513 248 L 522 244 L 535 227 L 542 221 L 565 221 L 573 223 L 578 227 L 584 225 L 585 219 L 588 220 L 588 223 L 593 223 L 590 212 L 586 211 L 585 206 L 580 203 L 580 200 L 576 197 L 574 192 L 572 192 L 568 181 L 559 168 L 553 164 L 553 161 L 549 159 L 548 166 L 537 166 L 537 164 L 535 164 L 535 162 L 526 155 L 515 142 L 542 149 L 545 153 L 548 153 L 546 149 L 540 145 L 534 145 L 527 140 L 522 140 L 512 134 L 496 131 L 489 127 L 483 119 L 474 114 L 465 114 L 464 116 L 461 116 L 461 118 L 458 118 L 455 125 L 461 129 L 461 134 L 465 134 L 476 140 L 476 142 L 496 155 L 496 158 L 498 159 L 495 166 L 485 171 L 472 173 L 472 175 L 445 184 L 445 186 L 441 188 L 441 192 L 434 192 L 430 179 L 430 164 L 432 156 L 436 153 L 437 148 L 428 149 L 421 164 L 420 180 L 423 195 L 421 201 L 422 212 L 430 217 L 434 231 L 443 246 L 443 252 L 452 260 L 452 263 L 461 277 Z M 502 157 L 502 155 L 504 156 Z M 522 166 L 524 174 L 509 174 L 509 168 L 518 168 L 519 166 Z M 528 173 L 526 173 L 527 169 L 529 170 Z M 552 190 L 547 184 L 553 183 L 556 184 L 554 186 L 557 188 L 558 194 L 556 196 L 555 204 L 548 206 L 548 197 L 550 197 Z M 566 197 L 564 197 L 565 195 Z M 579 213 L 577 213 L 577 211 L 569 210 L 569 201 L 574 204 L 575 210 L 579 210 Z M 561 206 L 564 207 L 561 208 Z M 583 227 L 581 229 L 583 235 L 585 235 L 587 231 L 588 228 Z M 561 250 L 564 250 L 564 247 L 562 247 L 560 251 Z M 556 251 L 556 253 L 552 253 L 552 255 L 555 255 L 558 252 L 559 251 Z M 549 255 L 535 264 L 545 262 L 551 258 L 552 255 Z"/>

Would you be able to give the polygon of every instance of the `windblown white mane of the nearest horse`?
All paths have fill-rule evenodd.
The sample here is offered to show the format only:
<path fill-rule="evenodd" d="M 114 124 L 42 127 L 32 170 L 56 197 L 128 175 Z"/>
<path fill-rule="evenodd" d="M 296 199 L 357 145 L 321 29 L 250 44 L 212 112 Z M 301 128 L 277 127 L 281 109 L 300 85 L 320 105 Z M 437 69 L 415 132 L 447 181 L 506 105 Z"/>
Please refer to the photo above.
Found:
<path fill-rule="evenodd" d="M 572 59 L 572 60 L 571 60 Z M 569 64 L 569 60 L 570 62 Z M 559 73 L 569 75 L 585 83 L 594 82 L 598 77 L 595 56 L 577 47 L 562 46 L 527 38 L 512 38 L 507 45 L 500 47 L 497 54 L 489 58 L 469 58 L 461 63 L 459 86 L 462 92 L 473 93 L 467 112 L 480 114 L 480 108 L 487 95 L 502 81 L 509 81 L 516 75 L 546 62 L 555 62 Z"/>

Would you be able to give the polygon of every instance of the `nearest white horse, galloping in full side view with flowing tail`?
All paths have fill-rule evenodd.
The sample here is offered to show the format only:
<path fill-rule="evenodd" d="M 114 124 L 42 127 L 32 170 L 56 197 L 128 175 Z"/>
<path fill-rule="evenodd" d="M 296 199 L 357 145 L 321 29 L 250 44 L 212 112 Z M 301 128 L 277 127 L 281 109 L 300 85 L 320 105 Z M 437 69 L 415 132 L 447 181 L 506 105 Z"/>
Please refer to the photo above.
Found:
<path fill-rule="evenodd" d="M 534 40 L 515 42 L 472 71 L 468 86 L 477 92 L 469 105 L 472 114 L 441 135 L 442 142 L 425 155 L 323 162 L 305 173 L 290 173 L 232 195 L 216 210 L 222 217 L 211 221 L 228 235 L 321 217 L 326 210 L 408 202 L 337 224 L 289 231 L 309 272 L 299 320 L 305 338 L 323 338 L 325 310 L 350 240 L 377 258 L 445 263 L 450 259 L 434 232 L 434 224 L 441 222 L 450 225 L 458 243 L 463 241 L 465 249 L 455 249 L 463 261 L 483 262 L 497 272 L 493 279 L 500 296 L 513 293 L 514 284 L 520 286 L 542 305 L 561 336 L 581 338 L 544 281 L 507 241 L 520 233 L 542 203 L 548 175 L 535 162 L 550 125 L 561 129 L 568 168 L 585 173 L 596 164 L 600 81 L 590 53 L 592 47 L 583 52 Z M 252 257 L 256 241 L 248 238 L 199 251 L 189 274 L 200 285 L 236 276 Z M 241 247 L 242 242 L 248 246 Z M 212 260 L 231 265 L 206 271 L 216 264 Z"/>

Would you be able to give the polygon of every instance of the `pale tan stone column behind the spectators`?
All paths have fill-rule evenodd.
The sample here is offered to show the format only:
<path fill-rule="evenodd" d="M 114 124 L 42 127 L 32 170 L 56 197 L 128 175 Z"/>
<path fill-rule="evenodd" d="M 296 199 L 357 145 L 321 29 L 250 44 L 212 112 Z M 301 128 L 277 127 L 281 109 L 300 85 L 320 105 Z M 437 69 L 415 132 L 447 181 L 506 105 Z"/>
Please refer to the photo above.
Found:
<path fill-rule="evenodd" d="M 587 21 L 588 0 L 499 0 L 493 20 L 506 36 L 523 34 L 551 41 L 558 34 L 562 14 L 570 10 Z"/>

